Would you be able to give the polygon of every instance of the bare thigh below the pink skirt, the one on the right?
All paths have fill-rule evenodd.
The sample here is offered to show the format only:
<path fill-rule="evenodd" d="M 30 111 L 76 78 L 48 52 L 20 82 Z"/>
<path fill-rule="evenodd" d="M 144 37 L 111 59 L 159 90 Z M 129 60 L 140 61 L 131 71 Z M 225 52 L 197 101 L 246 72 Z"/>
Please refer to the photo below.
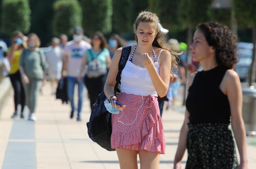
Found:
<path fill-rule="evenodd" d="M 159 153 L 140 150 L 139 157 L 141 169 L 159 169 Z"/>

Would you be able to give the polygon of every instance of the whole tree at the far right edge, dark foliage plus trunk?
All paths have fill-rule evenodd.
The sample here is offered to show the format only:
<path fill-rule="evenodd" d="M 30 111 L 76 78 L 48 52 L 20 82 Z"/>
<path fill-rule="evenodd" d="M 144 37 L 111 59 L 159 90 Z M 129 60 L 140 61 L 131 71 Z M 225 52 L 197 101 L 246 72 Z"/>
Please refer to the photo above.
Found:
<path fill-rule="evenodd" d="M 239 27 L 252 28 L 253 57 L 249 70 L 249 86 L 252 86 L 255 82 L 256 1 L 233 0 L 233 7 Z"/>

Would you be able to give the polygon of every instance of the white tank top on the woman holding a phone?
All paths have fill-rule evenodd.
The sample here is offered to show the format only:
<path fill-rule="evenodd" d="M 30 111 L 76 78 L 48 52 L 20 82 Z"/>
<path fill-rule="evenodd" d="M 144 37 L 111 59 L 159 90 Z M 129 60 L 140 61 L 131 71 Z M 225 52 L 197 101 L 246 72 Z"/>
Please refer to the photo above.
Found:
<path fill-rule="evenodd" d="M 162 51 L 162 49 L 161 49 Z M 154 63 L 159 74 L 159 56 Z M 130 57 L 129 57 L 130 58 Z M 142 96 L 157 96 L 157 91 L 152 83 L 151 77 L 146 68 L 134 65 L 129 59 L 121 73 L 121 92 Z"/>

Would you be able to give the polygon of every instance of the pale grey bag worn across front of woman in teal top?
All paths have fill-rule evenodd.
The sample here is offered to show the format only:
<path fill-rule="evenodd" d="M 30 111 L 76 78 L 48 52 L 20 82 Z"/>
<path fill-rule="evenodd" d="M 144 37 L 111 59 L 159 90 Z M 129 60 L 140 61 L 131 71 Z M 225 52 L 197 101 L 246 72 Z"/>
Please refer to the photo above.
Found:
<path fill-rule="evenodd" d="M 92 54 L 92 49 L 89 49 L 89 52 Z M 106 74 L 106 68 L 103 67 L 102 62 L 98 59 L 99 54 L 101 54 L 102 51 L 100 51 L 92 60 L 88 63 L 87 73 L 86 76 L 88 78 L 97 78 L 101 75 Z"/>

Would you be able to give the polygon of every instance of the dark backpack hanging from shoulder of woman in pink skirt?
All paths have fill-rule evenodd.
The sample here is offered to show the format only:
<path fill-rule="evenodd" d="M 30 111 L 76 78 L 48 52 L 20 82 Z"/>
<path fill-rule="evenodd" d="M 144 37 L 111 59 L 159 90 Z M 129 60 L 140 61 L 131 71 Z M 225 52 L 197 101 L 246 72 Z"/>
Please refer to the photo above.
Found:
<path fill-rule="evenodd" d="M 119 93 L 121 92 L 121 73 L 129 58 L 130 52 L 131 46 L 123 47 L 114 88 L 116 97 L 118 97 Z M 106 99 L 107 98 L 104 92 L 99 94 L 96 103 L 92 106 L 90 120 L 88 123 L 86 123 L 86 125 L 88 128 L 88 135 L 92 141 L 96 142 L 102 148 L 105 148 L 108 151 L 115 151 L 115 149 L 111 148 L 112 121 L 111 113 L 109 113 L 104 106 L 104 101 Z"/>

